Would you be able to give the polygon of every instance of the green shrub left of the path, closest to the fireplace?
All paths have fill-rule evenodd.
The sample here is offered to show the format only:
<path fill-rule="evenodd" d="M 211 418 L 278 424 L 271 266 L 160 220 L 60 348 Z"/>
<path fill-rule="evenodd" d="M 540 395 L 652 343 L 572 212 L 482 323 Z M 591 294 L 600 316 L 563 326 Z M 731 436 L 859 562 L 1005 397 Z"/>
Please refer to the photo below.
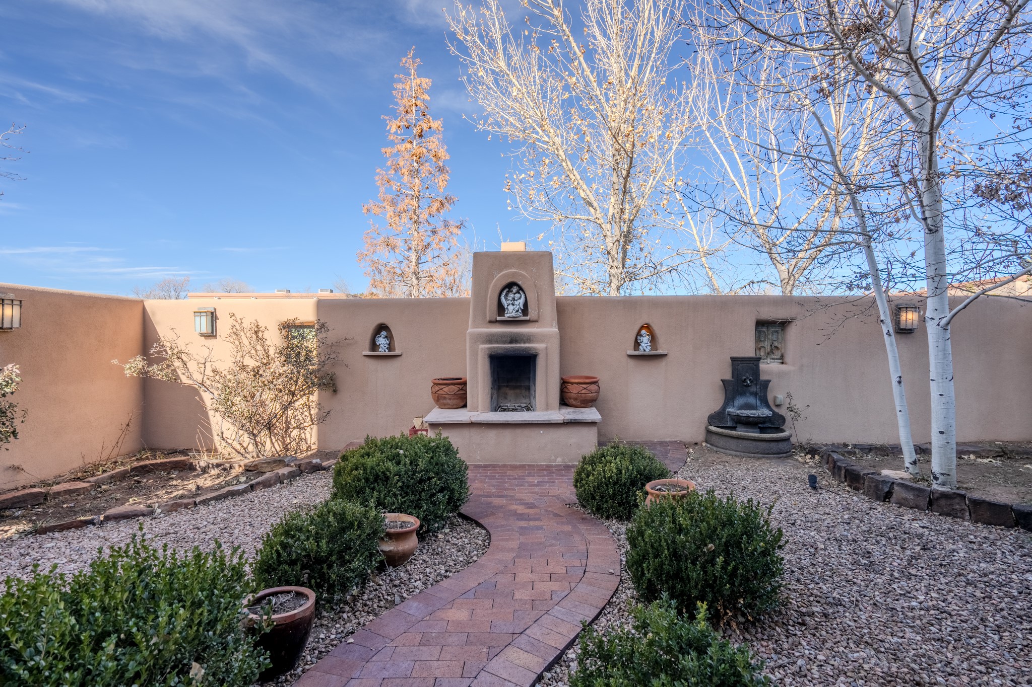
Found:
<path fill-rule="evenodd" d="M 447 437 L 366 437 L 333 469 L 333 499 L 373 504 L 419 518 L 419 533 L 438 531 L 470 497 L 467 467 Z"/>

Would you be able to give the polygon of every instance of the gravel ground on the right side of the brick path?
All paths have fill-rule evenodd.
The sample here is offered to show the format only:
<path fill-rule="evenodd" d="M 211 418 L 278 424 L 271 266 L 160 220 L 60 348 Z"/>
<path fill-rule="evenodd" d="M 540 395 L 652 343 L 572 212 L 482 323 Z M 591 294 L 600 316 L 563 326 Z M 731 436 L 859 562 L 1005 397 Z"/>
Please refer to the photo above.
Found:
<path fill-rule="evenodd" d="M 876 504 L 805 455 L 692 447 L 678 477 L 764 504 L 785 533 L 781 609 L 725 633 L 782 687 L 1032 685 L 1032 536 Z M 817 475 L 819 488 L 807 486 Z M 624 523 L 606 523 L 626 550 Z M 626 579 L 599 619 L 627 622 Z M 569 684 L 576 645 L 541 685 Z"/>

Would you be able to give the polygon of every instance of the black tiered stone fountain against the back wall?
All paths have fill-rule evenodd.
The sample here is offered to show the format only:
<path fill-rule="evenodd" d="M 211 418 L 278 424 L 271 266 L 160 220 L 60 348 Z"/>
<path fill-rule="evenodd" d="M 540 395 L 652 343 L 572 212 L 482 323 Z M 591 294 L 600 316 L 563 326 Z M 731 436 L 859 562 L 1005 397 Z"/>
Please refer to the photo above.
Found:
<path fill-rule="evenodd" d="M 706 443 L 721 453 L 748 457 L 785 458 L 792 455 L 792 433 L 784 415 L 771 408 L 767 387 L 760 379 L 760 357 L 732 355 L 731 379 L 723 382 L 723 405 L 710 413 Z"/>

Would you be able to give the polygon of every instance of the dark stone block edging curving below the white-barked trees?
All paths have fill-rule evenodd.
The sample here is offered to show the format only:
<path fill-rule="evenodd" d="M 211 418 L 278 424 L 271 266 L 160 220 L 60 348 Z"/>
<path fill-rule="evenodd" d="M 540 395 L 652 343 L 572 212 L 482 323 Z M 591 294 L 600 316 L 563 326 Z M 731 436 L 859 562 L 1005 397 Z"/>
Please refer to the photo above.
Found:
<path fill-rule="evenodd" d="M 932 511 L 939 515 L 969 520 L 999 527 L 1018 526 L 1032 531 L 1032 506 L 1004 504 L 965 491 L 933 489 L 907 480 L 898 480 L 857 465 L 835 451 L 817 452 L 825 470 L 839 482 L 854 491 L 863 491 L 868 499 L 889 502 L 918 511 Z"/>

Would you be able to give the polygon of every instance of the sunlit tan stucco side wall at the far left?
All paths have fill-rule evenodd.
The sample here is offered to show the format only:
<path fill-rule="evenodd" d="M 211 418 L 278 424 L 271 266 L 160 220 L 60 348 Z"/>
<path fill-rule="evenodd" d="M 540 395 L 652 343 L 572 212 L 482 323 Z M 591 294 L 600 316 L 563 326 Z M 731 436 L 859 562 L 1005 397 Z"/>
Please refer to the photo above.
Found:
<path fill-rule="evenodd" d="M 142 301 L 2 283 L 0 293 L 23 301 L 22 328 L 0 332 L 0 366 L 21 368 L 9 400 L 28 412 L 0 450 L 0 489 L 105 457 L 126 422 L 120 453 L 138 450 L 142 384 L 111 360 L 139 353 Z"/>

